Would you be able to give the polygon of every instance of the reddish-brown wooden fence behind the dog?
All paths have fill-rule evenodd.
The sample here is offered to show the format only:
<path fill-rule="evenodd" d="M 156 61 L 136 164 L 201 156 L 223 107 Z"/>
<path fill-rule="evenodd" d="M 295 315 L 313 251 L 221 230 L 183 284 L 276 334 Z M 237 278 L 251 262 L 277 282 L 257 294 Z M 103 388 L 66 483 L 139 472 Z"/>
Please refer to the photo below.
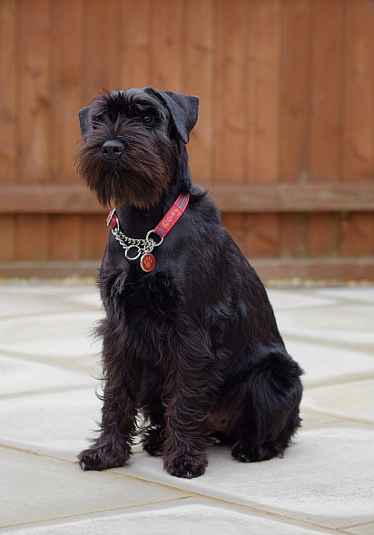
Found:
<path fill-rule="evenodd" d="M 86 273 L 101 87 L 201 97 L 189 153 L 261 277 L 374 279 L 374 0 L 1 0 L 0 276 Z"/>

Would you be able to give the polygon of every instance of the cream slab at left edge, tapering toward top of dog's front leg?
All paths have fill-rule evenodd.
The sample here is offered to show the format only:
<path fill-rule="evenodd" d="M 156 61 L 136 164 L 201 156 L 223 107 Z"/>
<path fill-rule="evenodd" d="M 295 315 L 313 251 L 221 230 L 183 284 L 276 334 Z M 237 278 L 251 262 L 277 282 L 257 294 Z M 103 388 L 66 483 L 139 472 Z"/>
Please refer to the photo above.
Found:
<path fill-rule="evenodd" d="M 0 396 L 93 384 L 89 374 L 0 355 Z"/>

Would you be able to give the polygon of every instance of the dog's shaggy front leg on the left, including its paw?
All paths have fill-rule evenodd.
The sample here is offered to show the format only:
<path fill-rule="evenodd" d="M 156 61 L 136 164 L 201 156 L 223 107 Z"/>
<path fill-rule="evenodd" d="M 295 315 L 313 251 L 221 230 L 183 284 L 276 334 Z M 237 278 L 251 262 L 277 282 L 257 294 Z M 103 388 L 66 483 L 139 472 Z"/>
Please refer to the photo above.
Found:
<path fill-rule="evenodd" d="M 78 455 L 83 470 L 105 470 L 123 466 L 131 455 L 132 434 L 135 428 L 136 408 L 132 381 L 121 362 L 105 366 L 110 358 L 110 342 L 103 340 L 103 362 L 106 368 L 103 389 L 102 423 L 100 436 L 93 445 Z"/>

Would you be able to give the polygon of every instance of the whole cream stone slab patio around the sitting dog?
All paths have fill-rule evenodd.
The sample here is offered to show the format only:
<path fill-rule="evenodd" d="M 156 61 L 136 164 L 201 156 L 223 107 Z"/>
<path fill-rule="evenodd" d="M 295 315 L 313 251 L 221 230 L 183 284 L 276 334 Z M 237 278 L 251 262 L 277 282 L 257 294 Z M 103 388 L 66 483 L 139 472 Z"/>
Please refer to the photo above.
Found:
<path fill-rule="evenodd" d="M 173 478 L 134 447 L 129 467 L 82 472 L 100 402 L 103 316 L 79 284 L 0 286 L 0 532 L 374 534 L 374 287 L 270 288 L 305 369 L 303 426 L 283 459 Z"/>

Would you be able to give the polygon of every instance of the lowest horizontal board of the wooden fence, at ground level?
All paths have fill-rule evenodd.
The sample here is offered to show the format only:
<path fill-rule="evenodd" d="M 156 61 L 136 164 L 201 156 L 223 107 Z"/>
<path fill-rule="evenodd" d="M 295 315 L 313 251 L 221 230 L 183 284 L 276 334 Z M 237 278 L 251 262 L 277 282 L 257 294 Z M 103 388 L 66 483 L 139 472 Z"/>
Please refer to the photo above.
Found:
<path fill-rule="evenodd" d="M 250 258 L 263 282 L 285 280 L 374 281 L 374 258 Z M 0 279 L 98 277 L 101 261 L 0 262 Z M 91 281 L 92 282 L 92 281 Z"/>

